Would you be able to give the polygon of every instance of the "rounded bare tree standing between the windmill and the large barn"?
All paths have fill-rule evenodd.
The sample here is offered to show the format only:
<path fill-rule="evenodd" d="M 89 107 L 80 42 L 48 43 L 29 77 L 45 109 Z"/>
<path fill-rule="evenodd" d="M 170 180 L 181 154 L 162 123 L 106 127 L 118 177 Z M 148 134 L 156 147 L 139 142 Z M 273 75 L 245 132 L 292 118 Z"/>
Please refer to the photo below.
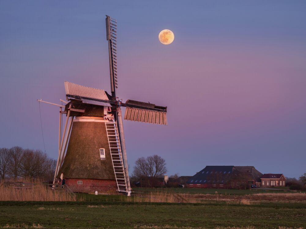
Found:
<path fill-rule="evenodd" d="M 150 186 L 153 187 L 157 177 L 167 172 L 165 159 L 158 155 L 147 158 L 138 158 L 134 166 L 134 175 L 138 178 L 150 179 Z"/>

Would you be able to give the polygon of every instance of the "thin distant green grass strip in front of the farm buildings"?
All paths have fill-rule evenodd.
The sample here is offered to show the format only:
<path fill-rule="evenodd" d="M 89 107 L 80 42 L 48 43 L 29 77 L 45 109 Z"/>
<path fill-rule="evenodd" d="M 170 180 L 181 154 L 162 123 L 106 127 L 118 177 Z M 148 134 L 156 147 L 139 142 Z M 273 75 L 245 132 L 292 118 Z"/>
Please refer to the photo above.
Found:
<path fill-rule="evenodd" d="M 249 195 L 254 193 L 272 193 L 272 192 L 288 192 L 283 190 L 278 190 L 275 188 L 274 190 L 271 189 L 261 189 L 261 188 L 252 188 L 251 190 L 239 190 L 239 189 L 216 189 L 216 188 L 140 188 L 140 187 L 133 187 L 133 191 L 136 193 L 146 193 L 152 191 L 166 191 L 166 192 L 177 192 L 177 193 L 190 193 L 190 194 L 215 194 L 217 191 L 219 194 L 235 194 L 235 195 Z"/>

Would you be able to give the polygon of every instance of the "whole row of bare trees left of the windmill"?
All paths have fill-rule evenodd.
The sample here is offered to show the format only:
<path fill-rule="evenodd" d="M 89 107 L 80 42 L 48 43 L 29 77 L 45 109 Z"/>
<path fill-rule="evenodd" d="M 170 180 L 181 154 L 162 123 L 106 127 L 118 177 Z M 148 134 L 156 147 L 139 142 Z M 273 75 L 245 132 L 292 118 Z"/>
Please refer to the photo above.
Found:
<path fill-rule="evenodd" d="M 53 180 L 56 160 L 42 150 L 23 149 L 15 146 L 0 148 L 1 180 L 19 178 L 40 178 Z"/>

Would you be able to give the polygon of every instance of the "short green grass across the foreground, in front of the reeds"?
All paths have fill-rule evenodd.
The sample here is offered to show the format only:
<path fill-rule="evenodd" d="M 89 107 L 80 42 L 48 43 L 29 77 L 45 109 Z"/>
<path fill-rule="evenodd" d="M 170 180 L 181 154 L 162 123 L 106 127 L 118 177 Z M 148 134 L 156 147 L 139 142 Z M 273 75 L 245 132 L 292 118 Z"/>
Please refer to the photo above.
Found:
<path fill-rule="evenodd" d="M 23 223 L 45 228 L 165 228 L 165 225 L 168 225 L 166 228 L 294 228 L 306 225 L 305 203 L 144 204 L 111 201 L 111 197 L 88 195 L 87 198 L 92 198 L 90 202 L 0 202 L 0 228 Z"/>

